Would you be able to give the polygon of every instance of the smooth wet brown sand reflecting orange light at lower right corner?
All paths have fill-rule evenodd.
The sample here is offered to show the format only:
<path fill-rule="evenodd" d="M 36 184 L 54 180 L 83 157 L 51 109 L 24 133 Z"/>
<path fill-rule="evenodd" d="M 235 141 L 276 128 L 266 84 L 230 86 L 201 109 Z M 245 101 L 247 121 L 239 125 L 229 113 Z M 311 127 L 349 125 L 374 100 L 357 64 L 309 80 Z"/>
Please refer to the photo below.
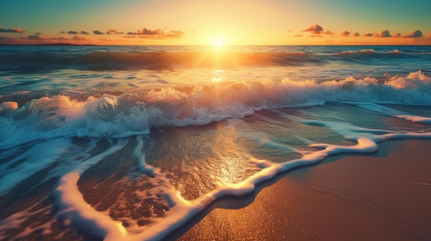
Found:
<path fill-rule="evenodd" d="M 430 147 L 387 141 L 374 154 L 293 170 L 214 203 L 171 239 L 431 240 Z"/>

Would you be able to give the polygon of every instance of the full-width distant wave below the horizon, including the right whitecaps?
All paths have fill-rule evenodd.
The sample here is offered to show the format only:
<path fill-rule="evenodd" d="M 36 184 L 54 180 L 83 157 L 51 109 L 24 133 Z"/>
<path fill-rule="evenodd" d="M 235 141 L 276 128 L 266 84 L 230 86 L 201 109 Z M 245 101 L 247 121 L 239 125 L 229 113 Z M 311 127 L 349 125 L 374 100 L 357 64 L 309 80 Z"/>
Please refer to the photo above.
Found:
<path fill-rule="evenodd" d="M 419 58 L 431 60 L 431 54 L 412 54 L 393 50 L 377 52 L 372 49 L 342 51 L 335 54 L 306 52 L 230 52 L 230 51 L 152 51 L 125 53 L 92 51 L 88 54 L 52 52 L 0 54 L 0 71 L 53 71 L 56 69 L 119 70 L 171 69 L 177 67 L 235 68 L 256 66 L 321 65 L 333 60 L 366 61 L 388 58 Z"/>

